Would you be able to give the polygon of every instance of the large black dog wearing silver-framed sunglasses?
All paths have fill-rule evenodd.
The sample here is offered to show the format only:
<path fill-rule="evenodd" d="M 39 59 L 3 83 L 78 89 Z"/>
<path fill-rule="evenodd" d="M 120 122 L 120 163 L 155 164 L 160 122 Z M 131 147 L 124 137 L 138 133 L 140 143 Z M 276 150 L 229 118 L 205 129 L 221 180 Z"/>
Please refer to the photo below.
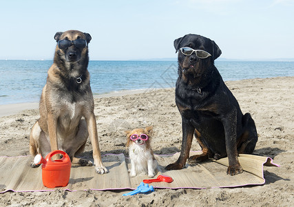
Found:
<path fill-rule="evenodd" d="M 258 134 L 251 115 L 242 114 L 238 101 L 214 66 L 214 60 L 222 53 L 220 48 L 197 34 L 176 39 L 174 47 L 178 52 L 176 105 L 182 116 L 182 148 L 178 160 L 166 169 L 182 169 L 188 158 L 193 163 L 227 156 L 227 174 L 242 173 L 238 154 L 251 154 Z M 202 155 L 189 157 L 193 135 Z"/>

